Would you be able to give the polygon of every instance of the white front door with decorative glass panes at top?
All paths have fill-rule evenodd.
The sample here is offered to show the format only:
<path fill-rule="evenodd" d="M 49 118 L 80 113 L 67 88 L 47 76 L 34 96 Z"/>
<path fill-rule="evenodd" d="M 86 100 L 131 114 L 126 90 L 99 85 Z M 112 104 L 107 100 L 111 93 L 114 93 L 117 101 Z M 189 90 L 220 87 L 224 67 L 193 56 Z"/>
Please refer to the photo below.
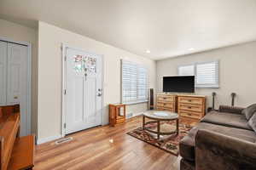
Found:
<path fill-rule="evenodd" d="M 66 48 L 66 129 L 102 124 L 102 56 Z"/>

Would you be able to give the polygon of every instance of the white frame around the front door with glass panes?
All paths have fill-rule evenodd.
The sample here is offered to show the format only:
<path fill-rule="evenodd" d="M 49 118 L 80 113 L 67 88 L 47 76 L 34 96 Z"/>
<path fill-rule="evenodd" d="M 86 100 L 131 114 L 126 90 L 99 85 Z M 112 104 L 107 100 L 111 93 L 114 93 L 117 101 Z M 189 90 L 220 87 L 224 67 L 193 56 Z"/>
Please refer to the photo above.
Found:
<path fill-rule="evenodd" d="M 72 48 L 72 49 L 77 49 L 79 51 L 84 51 L 88 54 L 94 54 L 87 52 L 84 49 L 79 49 L 79 48 L 73 48 L 70 47 L 69 45 L 66 45 L 65 43 L 62 43 L 61 45 L 61 50 L 62 50 L 62 92 L 61 92 L 61 136 L 62 138 L 65 137 L 66 131 L 65 131 L 65 123 L 66 123 L 66 106 L 67 106 L 67 99 L 66 99 L 66 88 L 67 88 L 67 54 L 66 54 L 66 49 L 67 48 Z M 102 123 L 103 123 L 103 115 L 104 115 L 104 56 L 102 54 L 94 54 L 94 55 L 100 55 L 102 56 Z M 101 125 L 102 125 L 101 123 Z"/>

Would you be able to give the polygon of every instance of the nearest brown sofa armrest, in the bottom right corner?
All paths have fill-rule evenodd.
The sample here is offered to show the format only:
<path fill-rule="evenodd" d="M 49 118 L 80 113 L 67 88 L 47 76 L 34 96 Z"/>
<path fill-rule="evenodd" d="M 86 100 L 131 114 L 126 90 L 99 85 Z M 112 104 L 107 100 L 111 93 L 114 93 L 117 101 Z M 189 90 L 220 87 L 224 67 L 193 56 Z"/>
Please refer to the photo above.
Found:
<path fill-rule="evenodd" d="M 256 144 L 199 130 L 195 136 L 196 170 L 256 169 Z"/>

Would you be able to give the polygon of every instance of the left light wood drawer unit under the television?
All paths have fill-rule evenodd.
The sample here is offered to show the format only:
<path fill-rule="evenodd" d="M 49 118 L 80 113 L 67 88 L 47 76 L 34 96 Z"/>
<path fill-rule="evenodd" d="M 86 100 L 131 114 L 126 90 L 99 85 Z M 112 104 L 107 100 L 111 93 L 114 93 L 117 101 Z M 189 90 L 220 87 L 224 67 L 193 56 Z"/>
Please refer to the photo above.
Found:
<path fill-rule="evenodd" d="M 156 110 L 177 112 L 177 95 L 157 94 Z"/>

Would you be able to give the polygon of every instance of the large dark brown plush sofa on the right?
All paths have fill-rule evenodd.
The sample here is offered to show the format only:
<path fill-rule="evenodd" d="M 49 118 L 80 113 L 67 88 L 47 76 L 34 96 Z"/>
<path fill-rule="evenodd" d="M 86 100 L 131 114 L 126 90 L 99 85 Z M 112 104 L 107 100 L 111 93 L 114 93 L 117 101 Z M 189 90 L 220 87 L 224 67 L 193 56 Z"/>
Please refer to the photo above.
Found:
<path fill-rule="evenodd" d="M 180 144 L 181 170 L 256 170 L 256 133 L 242 108 L 207 113 Z"/>

